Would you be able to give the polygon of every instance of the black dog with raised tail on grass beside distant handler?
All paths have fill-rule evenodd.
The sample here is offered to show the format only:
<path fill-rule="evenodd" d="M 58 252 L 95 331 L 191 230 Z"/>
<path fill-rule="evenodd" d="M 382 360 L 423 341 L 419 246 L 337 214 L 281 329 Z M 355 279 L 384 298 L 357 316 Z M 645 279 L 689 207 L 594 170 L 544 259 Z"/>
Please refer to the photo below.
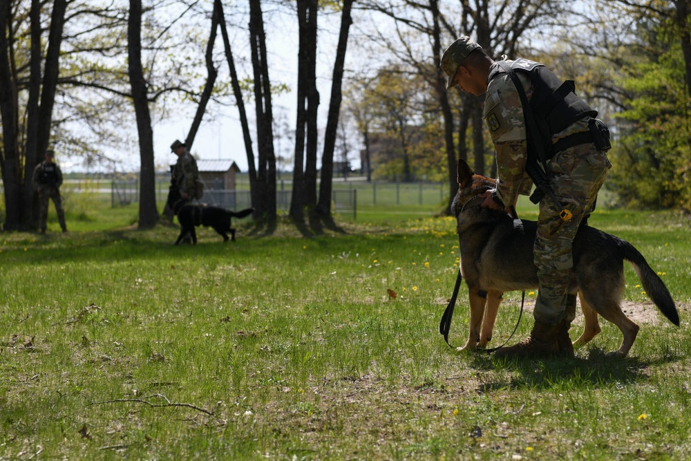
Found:
<path fill-rule="evenodd" d="M 194 232 L 195 226 L 213 227 L 218 234 L 223 236 L 223 241 L 228 241 L 228 234 L 230 232 L 230 240 L 235 241 L 235 229 L 230 227 L 230 218 L 245 218 L 254 211 L 254 208 L 243 209 L 243 211 L 229 211 L 221 207 L 212 207 L 207 205 L 182 205 L 182 202 L 176 203 L 173 211 L 178 215 L 180 221 L 180 235 L 175 244 L 178 245 L 182 241 L 184 234 L 192 236 L 192 243 L 196 245 L 197 234 Z"/>

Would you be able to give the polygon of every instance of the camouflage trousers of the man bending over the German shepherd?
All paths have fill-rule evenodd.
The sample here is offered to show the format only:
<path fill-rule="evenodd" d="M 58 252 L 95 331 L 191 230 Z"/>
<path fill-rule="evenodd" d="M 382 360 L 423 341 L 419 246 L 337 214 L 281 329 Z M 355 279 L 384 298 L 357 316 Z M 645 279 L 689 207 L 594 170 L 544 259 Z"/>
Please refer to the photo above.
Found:
<path fill-rule="evenodd" d="M 536 321 L 555 325 L 562 319 L 573 321 L 576 303 L 567 306 L 569 278 L 574 258 L 571 247 L 584 216 L 591 211 L 600 187 L 612 164 L 593 144 L 582 144 L 556 153 L 547 164 L 547 175 L 562 207 L 571 211 L 571 220 L 562 220 L 560 209 L 545 196 L 540 201 L 538 232 L 533 247 L 538 267 Z M 575 301 L 571 297 L 571 301 Z"/>

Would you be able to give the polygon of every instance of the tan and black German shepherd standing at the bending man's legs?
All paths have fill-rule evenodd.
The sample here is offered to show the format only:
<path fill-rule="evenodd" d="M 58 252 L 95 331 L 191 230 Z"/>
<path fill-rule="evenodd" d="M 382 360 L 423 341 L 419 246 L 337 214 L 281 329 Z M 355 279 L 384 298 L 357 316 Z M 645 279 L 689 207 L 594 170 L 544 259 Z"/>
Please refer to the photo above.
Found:
<path fill-rule="evenodd" d="M 474 174 L 464 160 L 458 163 L 457 175 L 459 191 L 451 211 L 457 218 L 461 272 L 468 285 L 471 311 L 470 335 L 463 348 L 473 350 L 491 339 L 503 292 L 538 287 L 533 263 L 537 223 L 480 207 L 484 199 L 478 196 L 494 189 L 496 180 Z M 634 267 L 657 308 L 679 326 L 670 292 L 633 245 L 586 225 L 578 229 L 572 252 L 574 267 L 568 292 L 578 292 L 585 317 L 585 330 L 574 346 L 586 344 L 600 332 L 598 314 L 614 323 L 623 335 L 621 347 L 609 356 L 625 357 L 634 344 L 638 325 L 619 305 L 625 283 L 623 261 Z"/>

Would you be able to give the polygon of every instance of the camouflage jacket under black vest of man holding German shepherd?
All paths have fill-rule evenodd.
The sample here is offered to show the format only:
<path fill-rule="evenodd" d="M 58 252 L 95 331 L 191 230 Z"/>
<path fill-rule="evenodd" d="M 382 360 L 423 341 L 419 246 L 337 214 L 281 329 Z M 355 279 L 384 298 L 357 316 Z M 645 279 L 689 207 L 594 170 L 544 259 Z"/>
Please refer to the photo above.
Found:
<path fill-rule="evenodd" d="M 511 64 L 511 60 L 507 63 Z M 533 95 L 533 83 L 523 72 L 517 72 L 526 96 Z M 497 64 L 492 64 L 487 78 L 483 118 L 489 126 L 497 156 L 497 195 L 506 205 L 519 194 L 530 195 L 533 182 L 525 172 L 527 160 L 526 126 L 520 96 L 511 78 Z M 583 117 L 552 137 L 552 143 L 568 135 L 588 130 L 590 117 Z M 549 169 L 549 166 L 548 166 Z"/>

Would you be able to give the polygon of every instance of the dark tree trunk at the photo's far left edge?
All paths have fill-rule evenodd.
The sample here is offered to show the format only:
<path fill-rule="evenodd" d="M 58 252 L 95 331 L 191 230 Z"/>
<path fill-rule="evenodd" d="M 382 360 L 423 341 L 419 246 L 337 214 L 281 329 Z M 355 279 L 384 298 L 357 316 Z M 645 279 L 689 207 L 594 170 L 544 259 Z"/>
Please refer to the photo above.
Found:
<path fill-rule="evenodd" d="M 8 37 L 12 12 L 9 1 L 0 2 L 0 115 L 2 117 L 3 152 L 0 167 L 5 189 L 4 230 L 19 229 L 19 139 L 17 118 L 17 82 L 10 64 L 11 46 Z"/>

